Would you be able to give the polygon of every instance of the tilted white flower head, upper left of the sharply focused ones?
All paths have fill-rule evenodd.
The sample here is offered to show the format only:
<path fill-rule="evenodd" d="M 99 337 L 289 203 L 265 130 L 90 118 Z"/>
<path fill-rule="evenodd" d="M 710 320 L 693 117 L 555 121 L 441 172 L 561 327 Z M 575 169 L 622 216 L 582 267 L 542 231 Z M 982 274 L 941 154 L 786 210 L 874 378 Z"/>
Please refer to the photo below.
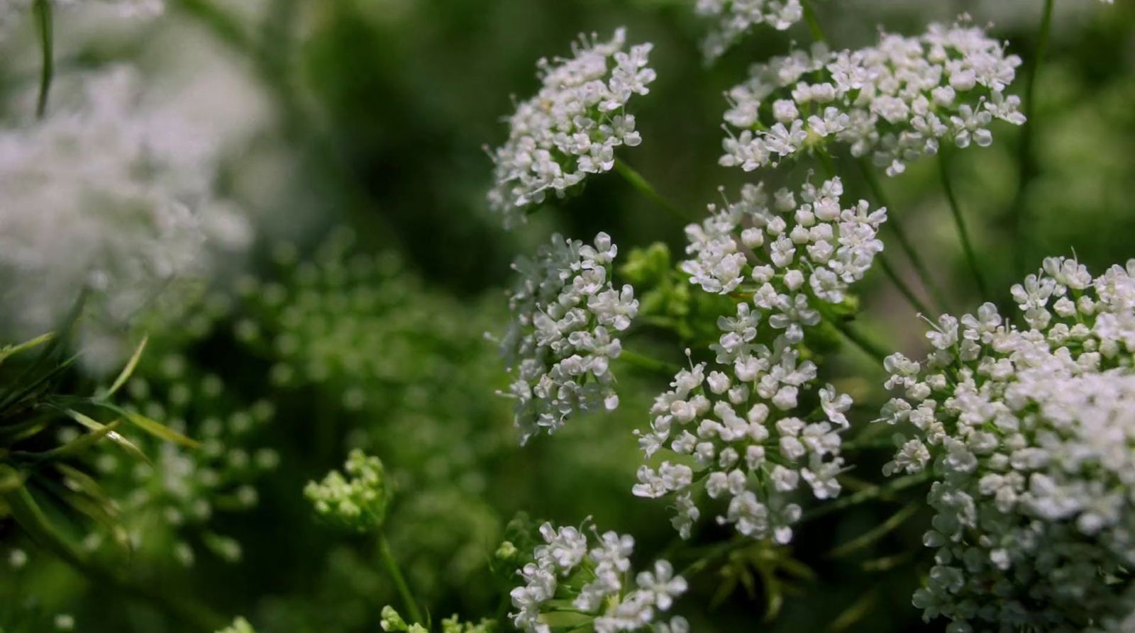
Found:
<path fill-rule="evenodd" d="M 651 44 L 624 51 L 625 43 L 624 28 L 608 41 L 580 36 L 572 58 L 538 62 L 540 91 L 516 104 L 508 141 L 490 153 L 496 184 L 488 201 L 506 227 L 522 222 L 526 208 L 548 192 L 562 196 L 588 174 L 609 171 L 620 145 L 642 141 L 627 103 L 655 79 Z"/>

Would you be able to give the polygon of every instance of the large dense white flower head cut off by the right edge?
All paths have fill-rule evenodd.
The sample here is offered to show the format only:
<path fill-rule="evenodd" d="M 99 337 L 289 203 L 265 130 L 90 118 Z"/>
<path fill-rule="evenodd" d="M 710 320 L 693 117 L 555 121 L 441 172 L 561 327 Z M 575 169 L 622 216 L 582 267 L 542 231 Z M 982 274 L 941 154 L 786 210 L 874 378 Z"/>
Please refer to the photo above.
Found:
<path fill-rule="evenodd" d="M 1135 613 L 1135 260 L 1093 279 L 1052 258 L 944 315 L 923 362 L 886 358 L 902 423 L 886 474 L 928 472 L 935 565 L 915 606 L 951 631 L 1129 631 Z M 1124 580 L 1126 579 L 1126 580 Z"/>

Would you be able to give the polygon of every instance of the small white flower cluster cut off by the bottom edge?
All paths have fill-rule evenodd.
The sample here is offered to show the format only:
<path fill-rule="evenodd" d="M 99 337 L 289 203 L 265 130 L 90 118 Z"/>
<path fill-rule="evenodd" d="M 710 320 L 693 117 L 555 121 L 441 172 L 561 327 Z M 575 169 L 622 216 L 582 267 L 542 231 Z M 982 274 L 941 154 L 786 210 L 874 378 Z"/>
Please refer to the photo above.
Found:
<path fill-rule="evenodd" d="M 666 622 L 659 615 L 687 589 L 686 580 L 674 575 L 671 564 L 657 560 L 651 571 L 639 572 L 632 589 L 634 539 L 616 532 L 599 534 L 594 528 L 591 532 L 594 543 L 586 530 L 557 530 L 550 523 L 540 526 L 545 543 L 536 548 L 535 560 L 520 571 L 524 584 L 512 590 L 512 605 L 518 610 L 510 616 L 516 628 L 550 633 L 545 611 L 555 601 L 586 614 L 579 625 L 590 622 L 596 633 L 688 633 L 689 625 L 681 616 Z"/>

